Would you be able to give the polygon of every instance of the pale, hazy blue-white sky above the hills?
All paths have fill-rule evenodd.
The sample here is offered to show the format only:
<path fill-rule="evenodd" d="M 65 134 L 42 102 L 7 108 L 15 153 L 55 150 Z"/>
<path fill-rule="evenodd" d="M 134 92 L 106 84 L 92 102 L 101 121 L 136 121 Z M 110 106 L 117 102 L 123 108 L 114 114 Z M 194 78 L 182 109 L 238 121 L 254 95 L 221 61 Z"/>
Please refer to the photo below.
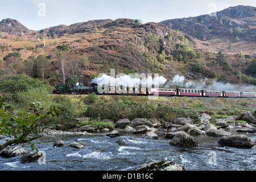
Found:
<path fill-rule="evenodd" d="M 16 19 L 30 30 L 96 19 L 141 19 L 143 23 L 188 18 L 230 6 L 256 6 L 255 0 L 0 0 L 0 21 Z"/>

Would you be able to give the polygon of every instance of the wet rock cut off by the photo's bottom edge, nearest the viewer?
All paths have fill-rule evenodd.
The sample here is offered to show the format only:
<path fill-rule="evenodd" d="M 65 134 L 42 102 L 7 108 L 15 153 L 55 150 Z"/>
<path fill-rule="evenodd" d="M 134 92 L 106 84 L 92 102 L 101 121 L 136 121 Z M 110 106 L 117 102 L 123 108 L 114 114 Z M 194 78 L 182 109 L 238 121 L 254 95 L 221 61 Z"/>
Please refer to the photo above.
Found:
<path fill-rule="evenodd" d="M 185 167 L 175 162 L 158 160 L 143 164 L 135 171 L 185 171 Z"/>

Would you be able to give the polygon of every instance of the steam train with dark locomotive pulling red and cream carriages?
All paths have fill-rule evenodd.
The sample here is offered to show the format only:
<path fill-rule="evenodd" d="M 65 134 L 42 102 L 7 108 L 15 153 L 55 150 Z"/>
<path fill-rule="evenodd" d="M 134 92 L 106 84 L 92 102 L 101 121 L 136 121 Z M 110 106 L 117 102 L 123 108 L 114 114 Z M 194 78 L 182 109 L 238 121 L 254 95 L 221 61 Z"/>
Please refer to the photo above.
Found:
<path fill-rule="evenodd" d="M 256 98 L 255 92 L 234 92 L 202 90 L 189 88 L 137 88 L 123 86 L 90 86 L 74 84 L 57 84 L 53 94 L 90 94 L 98 95 L 126 95 L 126 96 L 165 96 L 165 97 L 230 97 L 230 98 Z"/>

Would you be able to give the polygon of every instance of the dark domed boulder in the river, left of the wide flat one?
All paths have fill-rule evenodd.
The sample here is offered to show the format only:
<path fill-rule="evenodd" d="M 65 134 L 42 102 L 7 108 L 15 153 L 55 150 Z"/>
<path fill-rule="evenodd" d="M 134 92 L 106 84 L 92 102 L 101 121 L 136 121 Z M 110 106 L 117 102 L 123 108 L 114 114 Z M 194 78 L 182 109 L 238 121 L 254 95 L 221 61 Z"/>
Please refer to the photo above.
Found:
<path fill-rule="evenodd" d="M 189 136 L 187 133 L 178 133 L 171 140 L 170 145 L 177 147 L 197 147 L 199 143 L 195 140 L 195 138 Z"/>

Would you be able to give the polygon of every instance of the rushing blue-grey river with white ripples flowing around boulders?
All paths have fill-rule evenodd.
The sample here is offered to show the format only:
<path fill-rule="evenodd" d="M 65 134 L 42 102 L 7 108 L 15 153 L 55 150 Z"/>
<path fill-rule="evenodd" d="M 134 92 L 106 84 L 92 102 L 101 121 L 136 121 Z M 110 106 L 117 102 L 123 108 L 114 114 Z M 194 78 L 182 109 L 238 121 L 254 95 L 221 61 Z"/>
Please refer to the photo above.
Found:
<path fill-rule="evenodd" d="M 232 131 L 234 133 L 234 131 Z M 239 133 L 244 134 L 244 133 Z M 256 142 L 255 134 L 245 134 Z M 170 139 L 142 138 L 142 135 L 123 134 L 110 138 L 106 133 L 92 136 L 54 136 L 34 140 L 35 147 L 46 154 L 45 164 L 22 164 L 20 158 L 1 158 L 1 171 L 134 171 L 144 163 L 155 160 L 170 160 L 179 163 L 187 171 L 255 171 L 256 147 L 241 149 L 218 144 L 218 137 L 193 136 L 200 144 L 196 148 L 170 146 Z M 125 145 L 120 146 L 117 140 Z M 64 147 L 53 147 L 63 140 Z M 68 146 L 71 142 L 84 145 L 77 149 Z M 0 140 L 3 143 L 3 139 Z M 30 150 L 28 144 L 23 147 Z M 31 151 L 30 153 L 35 152 Z"/>

